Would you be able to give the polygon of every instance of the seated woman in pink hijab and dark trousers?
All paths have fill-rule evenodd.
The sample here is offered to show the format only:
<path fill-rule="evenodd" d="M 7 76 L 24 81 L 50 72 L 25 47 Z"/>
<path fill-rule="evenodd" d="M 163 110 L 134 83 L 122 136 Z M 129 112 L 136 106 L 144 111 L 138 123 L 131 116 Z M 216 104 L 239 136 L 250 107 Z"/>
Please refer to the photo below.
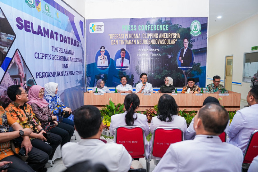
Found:
<path fill-rule="evenodd" d="M 60 135 L 62 137 L 61 146 L 69 142 L 73 135 L 74 127 L 56 121 L 57 116 L 53 115 L 48 107 L 48 102 L 44 99 L 44 88 L 39 85 L 31 86 L 28 98 L 27 103 L 31 106 L 44 130 Z M 50 125 L 50 122 L 54 122 L 54 126 Z"/>

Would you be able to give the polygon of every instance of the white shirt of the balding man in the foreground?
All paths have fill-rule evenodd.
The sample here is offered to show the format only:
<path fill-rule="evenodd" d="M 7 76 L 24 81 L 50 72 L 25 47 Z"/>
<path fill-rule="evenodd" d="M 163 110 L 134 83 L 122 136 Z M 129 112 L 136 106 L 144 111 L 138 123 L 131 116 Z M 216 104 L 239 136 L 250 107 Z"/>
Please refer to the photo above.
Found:
<path fill-rule="evenodd" d="M 241 149 L 222 142 L 219 136 L 207 136 L 171 144 L 153 172 L 241 172 Z"/>

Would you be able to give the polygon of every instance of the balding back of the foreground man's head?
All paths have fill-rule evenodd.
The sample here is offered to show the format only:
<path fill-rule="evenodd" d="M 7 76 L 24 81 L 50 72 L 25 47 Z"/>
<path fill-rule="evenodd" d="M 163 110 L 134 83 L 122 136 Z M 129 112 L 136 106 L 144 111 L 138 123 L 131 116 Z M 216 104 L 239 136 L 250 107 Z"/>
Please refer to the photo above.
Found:
<path fill-rule="evenodd" d="M 225 108 L 217 103 L 207 103 L 198 111 L 204 130 L 214 134 L 221 134 L 227 124 L 229 115 Z"/>

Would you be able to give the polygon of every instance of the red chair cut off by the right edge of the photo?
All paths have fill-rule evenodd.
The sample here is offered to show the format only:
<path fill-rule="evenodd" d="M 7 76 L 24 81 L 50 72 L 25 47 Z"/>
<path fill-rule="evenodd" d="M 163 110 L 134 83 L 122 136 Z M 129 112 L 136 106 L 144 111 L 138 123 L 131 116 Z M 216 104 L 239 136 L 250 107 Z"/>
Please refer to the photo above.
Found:
<path fill-rule="evenodd" d="M 252 132 L 244 153 L 243 163 L 251 163 L 258 155 L 258 130 Z"/>

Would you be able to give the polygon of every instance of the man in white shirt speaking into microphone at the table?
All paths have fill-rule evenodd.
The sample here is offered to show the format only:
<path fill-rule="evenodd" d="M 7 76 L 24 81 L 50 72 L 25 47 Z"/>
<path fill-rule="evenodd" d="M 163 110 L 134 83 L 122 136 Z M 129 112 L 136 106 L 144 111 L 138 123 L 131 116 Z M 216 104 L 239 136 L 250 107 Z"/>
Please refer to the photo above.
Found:
<path fill-rule="evenodd" d="M 136 93 L 152 93 L 152 85 L 148 83 L 148 77 L 146 73 L 142 73 L 140 76 L 141 82 L 136 84 Z"/>

